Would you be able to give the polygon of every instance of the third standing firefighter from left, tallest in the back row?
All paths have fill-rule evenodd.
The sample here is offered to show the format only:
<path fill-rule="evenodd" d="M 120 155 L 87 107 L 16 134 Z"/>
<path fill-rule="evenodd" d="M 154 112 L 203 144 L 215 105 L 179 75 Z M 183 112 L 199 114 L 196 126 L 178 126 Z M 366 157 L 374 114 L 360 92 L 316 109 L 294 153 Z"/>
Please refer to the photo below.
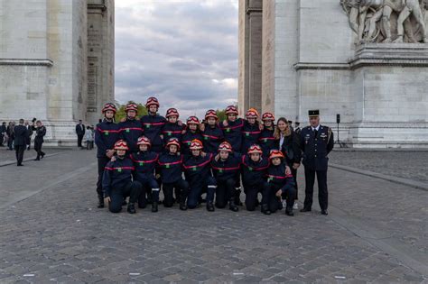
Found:
<path fill-rule="evenodd" d="M 154 96 L 147 98 L 145 107 L 147 108 L 148 115 L 141 117 L 144 136 L 152 143 L 150 150 L 159 154 L 163 151 L 163 139 L 161 135 L 166 119 L 162 115 L 157 114 L 159 102 Z"/>

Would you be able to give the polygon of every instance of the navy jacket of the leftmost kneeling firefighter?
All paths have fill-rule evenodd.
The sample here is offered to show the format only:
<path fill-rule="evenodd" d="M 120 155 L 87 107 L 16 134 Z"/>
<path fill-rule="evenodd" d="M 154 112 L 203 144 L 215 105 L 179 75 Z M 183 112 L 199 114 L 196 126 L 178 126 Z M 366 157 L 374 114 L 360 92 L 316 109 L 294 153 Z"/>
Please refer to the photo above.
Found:
<path fill-rule="evenodd" d="M 129 158 L 107 162 L 102 182 L 104 197 L 109 197 L 112 189 L 125 187 L 132 180 L 134 169 L 134 163 Z"/>

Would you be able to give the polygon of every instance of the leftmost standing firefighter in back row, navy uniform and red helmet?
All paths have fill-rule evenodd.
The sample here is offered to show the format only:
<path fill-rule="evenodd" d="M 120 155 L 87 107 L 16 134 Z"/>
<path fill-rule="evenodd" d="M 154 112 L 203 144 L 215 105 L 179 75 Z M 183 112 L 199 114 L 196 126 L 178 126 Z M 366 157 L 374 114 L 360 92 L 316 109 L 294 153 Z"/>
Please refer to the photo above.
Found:
<path fill-rule="evenodd" d="M 115 154 L 115 143 L 119 140 L 119 126 L 115 124 L 116 105 L 107 103 L 103 108 L 104 120 L 97 124 L 95 130 L 95 143 L 97 145 L 98 159 L 98 208 L 104 207 L 103 197 L 103 173 L 107 162 Z"/>

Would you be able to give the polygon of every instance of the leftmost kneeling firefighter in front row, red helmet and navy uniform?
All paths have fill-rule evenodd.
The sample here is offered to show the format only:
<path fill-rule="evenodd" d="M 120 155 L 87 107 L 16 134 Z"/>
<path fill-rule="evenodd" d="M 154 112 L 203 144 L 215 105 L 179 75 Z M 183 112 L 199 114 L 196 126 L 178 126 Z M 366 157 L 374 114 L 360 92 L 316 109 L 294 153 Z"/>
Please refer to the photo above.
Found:
<path fill-rule="evenodd" d="M 127 211 L 135 214 L 135 202 L 141 193 L 141 183 L 132 180 L 132 172 L 135 169 L 133 161 L 126 158 L 129 150 L 123 140 L 115 143 L 117 153 L 116 160 L 107 162 L 103 174 L 104 202 L 108 204 L 108 210 L 112 213 L 122 211 L 124 198 L 129 197 Z"/>

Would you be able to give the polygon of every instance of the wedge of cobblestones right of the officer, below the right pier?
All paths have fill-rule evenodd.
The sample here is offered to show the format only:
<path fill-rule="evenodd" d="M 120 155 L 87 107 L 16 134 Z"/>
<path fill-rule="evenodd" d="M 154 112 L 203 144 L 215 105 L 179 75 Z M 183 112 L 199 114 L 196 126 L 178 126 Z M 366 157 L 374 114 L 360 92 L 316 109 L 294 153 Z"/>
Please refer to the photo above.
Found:
<path fill-rule="evenodd" d="M 428 183 L 428 151 L 332 151 L 330 162 Z"/>

